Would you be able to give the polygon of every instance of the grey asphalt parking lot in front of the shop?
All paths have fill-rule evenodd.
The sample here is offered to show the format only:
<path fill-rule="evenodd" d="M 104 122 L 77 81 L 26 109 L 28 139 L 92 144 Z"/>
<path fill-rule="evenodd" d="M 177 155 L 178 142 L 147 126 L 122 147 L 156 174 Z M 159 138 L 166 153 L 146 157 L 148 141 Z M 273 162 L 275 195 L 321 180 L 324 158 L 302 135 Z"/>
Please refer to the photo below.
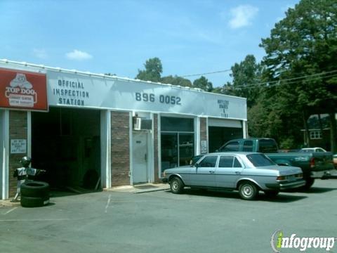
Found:
<path fill-rule="evenodd" d="M 273 252 L 272 234 L 337 237 L 337 180 L 307 192 L 169 190 L 56 194 L 39 208 L 0 207 L 1 252 Z M 300 252 L 300 249 L 281 249 Z M 310 249 L 306 252 L 326 252 Z M 330 252 L 337 252 L 336 245 Z"/>

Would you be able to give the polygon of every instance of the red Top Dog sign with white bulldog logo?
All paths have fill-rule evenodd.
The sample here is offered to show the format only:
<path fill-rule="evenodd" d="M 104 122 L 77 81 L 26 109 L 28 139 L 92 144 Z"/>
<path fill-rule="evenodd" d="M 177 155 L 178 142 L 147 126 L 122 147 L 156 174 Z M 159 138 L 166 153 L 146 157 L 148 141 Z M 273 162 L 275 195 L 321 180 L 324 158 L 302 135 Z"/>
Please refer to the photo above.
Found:
<path fill-rule="evenodd" d="M 46 74 L 0 68 L 0 108 L 48 110 Z"/>

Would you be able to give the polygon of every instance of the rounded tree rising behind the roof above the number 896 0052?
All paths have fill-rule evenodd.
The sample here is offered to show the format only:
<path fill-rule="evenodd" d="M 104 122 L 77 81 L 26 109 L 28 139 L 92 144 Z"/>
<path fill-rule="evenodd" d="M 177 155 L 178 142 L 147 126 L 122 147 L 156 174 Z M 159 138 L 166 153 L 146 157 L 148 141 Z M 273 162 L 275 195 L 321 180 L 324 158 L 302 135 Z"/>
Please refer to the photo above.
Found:
<path fill-rule="evenodd" d="M 161 65 L 161 60 L 157 57 L 150 58 L 146 60 L 144 64 L 145 70 L 138 70 L 136 79 L 160 82 L 161 73 L 163 72 L 163 66 Z"/>

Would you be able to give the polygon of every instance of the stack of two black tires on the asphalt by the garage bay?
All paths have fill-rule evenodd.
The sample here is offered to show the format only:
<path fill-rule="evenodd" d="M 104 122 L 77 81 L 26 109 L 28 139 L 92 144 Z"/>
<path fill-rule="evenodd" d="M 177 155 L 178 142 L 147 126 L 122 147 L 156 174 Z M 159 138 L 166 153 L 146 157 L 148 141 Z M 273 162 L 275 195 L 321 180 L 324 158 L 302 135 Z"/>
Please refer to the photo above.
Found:
<path fill-rule="evenodd" d="M 49 184 L 42 181 L 27 181 L 20 187 L 22 207 L 43 207 L 49 203 Z"/>

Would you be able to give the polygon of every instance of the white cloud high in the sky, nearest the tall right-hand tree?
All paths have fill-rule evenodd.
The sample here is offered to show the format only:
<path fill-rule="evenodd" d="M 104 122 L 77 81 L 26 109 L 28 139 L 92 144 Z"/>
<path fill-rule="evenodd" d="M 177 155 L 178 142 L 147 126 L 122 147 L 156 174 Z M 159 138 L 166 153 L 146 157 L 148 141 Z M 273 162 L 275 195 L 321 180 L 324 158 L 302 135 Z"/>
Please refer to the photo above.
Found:
<path fill-rule="evenodd" d="M 251 25 L 251 20 L 258 13 L 258 8 L 250 5 L 240 5 L 230 10 L 231 20 L 229 25 L 232 29 Z"/>

